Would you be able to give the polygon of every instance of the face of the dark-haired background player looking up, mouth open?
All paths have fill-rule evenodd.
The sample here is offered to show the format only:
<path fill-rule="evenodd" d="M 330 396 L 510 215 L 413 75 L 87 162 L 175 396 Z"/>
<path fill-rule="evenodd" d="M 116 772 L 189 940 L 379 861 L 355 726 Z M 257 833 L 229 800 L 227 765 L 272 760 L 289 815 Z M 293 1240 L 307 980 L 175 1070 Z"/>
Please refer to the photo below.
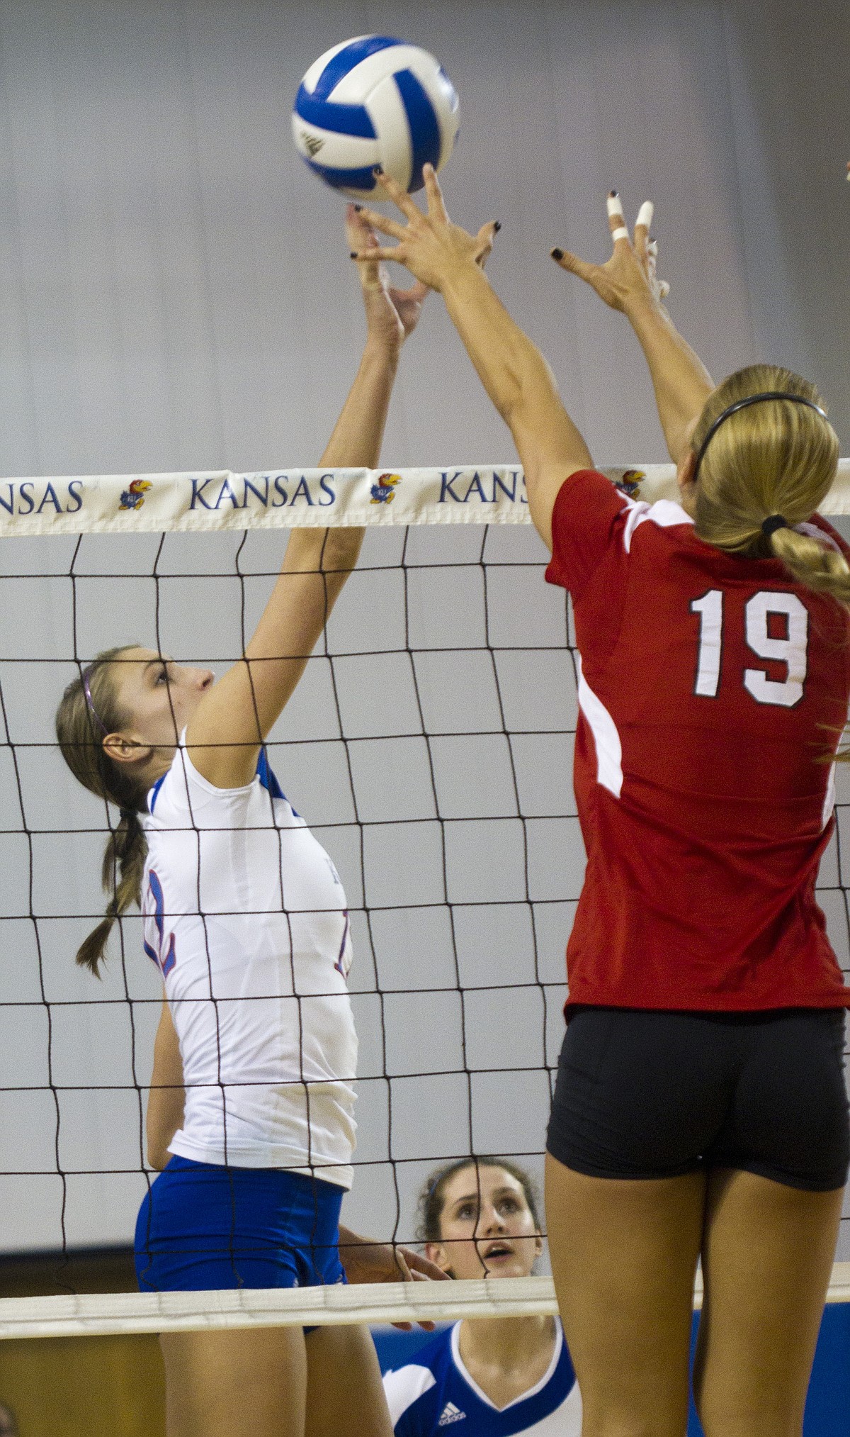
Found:
<path fill-rule="evenodd" d="M 439 1243 L 426 1253 L 454 1277 L 527 1277 L 543 1239 L 523 1184 L 505 1168 L 461 1168 L 447 1183 Z"/>

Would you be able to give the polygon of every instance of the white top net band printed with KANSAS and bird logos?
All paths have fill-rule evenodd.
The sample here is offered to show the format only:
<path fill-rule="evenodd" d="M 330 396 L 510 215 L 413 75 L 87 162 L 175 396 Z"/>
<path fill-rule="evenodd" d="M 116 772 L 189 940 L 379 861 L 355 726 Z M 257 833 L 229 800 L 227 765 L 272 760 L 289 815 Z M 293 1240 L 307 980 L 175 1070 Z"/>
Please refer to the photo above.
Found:
<path fill-rule="evenodd" d="M 649 503 L 678 494 L 672 464 L 606 467 L 603 473 L 630 491 L 635 486 L 636 497 Z M 821 513 L 850 514 L 850 460 L 840 461 Z M 518 464 L 0 480 L 0 537 L 530 522 Z"/>

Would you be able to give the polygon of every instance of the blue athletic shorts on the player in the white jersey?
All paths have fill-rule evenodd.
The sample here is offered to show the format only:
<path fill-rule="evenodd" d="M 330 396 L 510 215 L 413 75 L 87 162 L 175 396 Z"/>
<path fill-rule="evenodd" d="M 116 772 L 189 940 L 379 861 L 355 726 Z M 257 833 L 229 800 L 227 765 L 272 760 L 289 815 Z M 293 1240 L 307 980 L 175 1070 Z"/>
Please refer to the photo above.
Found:
<path fill-rule="evenodd" d="M 343 1188 L 281 1168 L 172 1157 L 136 1220 L 141 1292 L 316 1288 L 345 1282 Z"/>

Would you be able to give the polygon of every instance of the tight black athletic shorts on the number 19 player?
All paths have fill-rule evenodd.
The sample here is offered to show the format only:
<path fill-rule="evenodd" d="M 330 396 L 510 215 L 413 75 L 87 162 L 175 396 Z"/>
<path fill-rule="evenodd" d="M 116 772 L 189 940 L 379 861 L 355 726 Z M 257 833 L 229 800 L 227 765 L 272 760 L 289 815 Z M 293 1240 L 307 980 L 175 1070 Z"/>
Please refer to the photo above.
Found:
<path fill-rule="evenodd" d="M 826 1193 L 850 1164 L 843 1055 L 844 1009 L 577 1007 L 547 1148 L 590 1177 L 722 1167 Z"/>

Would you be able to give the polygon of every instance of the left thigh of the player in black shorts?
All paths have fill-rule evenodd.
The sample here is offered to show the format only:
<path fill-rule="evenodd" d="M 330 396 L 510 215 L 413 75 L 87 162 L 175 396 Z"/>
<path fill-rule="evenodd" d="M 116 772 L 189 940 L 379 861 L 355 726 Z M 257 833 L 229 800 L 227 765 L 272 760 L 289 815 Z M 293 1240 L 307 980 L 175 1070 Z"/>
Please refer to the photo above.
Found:
<path fill-rule="evenodd" d="M 705 1177 L 597 1178 L 546 1157 L 546 1224 L 584 1437 L 682 1437 Z"/>

